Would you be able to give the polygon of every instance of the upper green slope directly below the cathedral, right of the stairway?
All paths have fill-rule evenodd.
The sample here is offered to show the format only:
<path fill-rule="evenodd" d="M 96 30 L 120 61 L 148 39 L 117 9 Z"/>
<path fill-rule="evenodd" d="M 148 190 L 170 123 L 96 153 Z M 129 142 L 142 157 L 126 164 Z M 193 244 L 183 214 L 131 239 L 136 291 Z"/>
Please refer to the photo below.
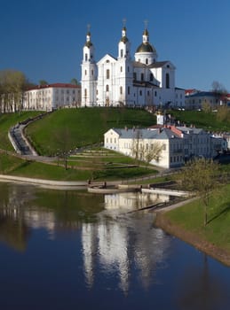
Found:
<path fill-rule="evenodd" d="M 75 149 L 104 140 L 109 128 L 147 127 L 155 124 L 155 115 L 144 110 L 125 108 L 62 109 L 30 124 L 27 136 L 41 155 L 53 155 L 67 143 Z"/>

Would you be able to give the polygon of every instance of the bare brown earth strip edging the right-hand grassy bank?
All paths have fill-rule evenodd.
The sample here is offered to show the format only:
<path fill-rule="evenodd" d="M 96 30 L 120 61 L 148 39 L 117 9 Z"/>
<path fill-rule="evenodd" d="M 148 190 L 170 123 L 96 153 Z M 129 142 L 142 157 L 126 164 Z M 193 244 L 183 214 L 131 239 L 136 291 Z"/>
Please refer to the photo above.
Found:
<path fill-rule="evenodd" d="M 192 198 L 189 201 L 195 200 Z M 155 226 L 163 229 L 165 232 L 171 234 L 172 236 L 178 237 L 187 244 L 193 245 L 199 251 L 208 254 L 215 260 L 220 261 L 224 265 L 230 267 L 230 252 L 223 249 L 216 244 L 207 241 L 202 234 L 196 234 L 192 231 L 184 229 L 182 226 L 178 225 L 170 220 L 167 213 L 174 208 L 178 208 L 182 205 L 186 205 L 188 201 L 180 202 L 177 205 L 170 205 L 169 207 L 156 210 Z M 189 214 L 187 214 L 189 216 Z"/>

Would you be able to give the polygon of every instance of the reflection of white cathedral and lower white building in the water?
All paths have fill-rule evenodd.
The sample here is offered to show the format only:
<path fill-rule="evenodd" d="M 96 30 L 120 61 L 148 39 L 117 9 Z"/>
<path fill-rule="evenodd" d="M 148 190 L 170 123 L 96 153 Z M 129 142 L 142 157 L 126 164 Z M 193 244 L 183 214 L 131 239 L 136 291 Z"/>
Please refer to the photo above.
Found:
<path fill-rule="evenodd" d="M 165 201 L 165 197 L 140 193 L 105 195 L 105 210 L 97 223 L 83 224 L 82 243 L 86 283 L 94 283 L 99 261 L 101 272 L 119 276 L 122 291 L 129 291 L 133 269 L 139 270 L 143 287 L 154 281 L 156 265 L 165 260 L 169 238 L 153 227 L 153 213 L 139 213 L 140 208 Z M 167 198 L 169 199 L 169 198 Z M 137 213 L 130 213 L 130 211 Z"/>

